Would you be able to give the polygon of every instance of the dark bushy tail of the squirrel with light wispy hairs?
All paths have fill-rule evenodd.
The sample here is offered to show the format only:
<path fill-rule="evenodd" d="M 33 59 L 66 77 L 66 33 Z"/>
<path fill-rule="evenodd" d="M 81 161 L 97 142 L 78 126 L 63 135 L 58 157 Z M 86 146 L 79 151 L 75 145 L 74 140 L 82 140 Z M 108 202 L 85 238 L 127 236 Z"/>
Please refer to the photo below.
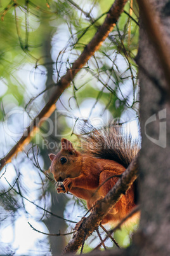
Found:
<path fill-rule="evenodd" d="M 109 159 L 128 167 L 140 149 L 140 142 L 126 134 L 122 125 L 95 129 L 85 124 L 82 129 L 81 151 L 100 159 Z"/>

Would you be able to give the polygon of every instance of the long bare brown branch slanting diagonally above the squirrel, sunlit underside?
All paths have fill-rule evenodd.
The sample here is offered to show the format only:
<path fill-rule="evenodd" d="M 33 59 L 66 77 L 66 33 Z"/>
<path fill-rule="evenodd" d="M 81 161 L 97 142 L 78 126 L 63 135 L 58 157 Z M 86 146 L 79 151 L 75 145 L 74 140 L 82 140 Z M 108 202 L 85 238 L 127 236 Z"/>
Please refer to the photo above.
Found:
<path fill-rule="evenodd" d="M 24 132 L 22 138 L 20 138 L 18 143 L 16 143 L 16 145 L 10 150 L 10 152 L 5 157 L 3 157 L 3 159 L 1 159 L 0 171 L 1 169 L 3 169 L 4 165 L 7 162 L 11 162 L 11 158 L 16 155 L 17 152 L 20 152 L 24 145 L 29 143 L 30 138 L 38 131 L 38 128 L 42 124 L 42 122 L 44 122 L 44 120 L 46 120 L 46 118 L 48 118 L 53 113 L 53 111 L 55 111 L 56 101 L 62 95 L 63 91 L 67 89 L 67 87 L 69 87 L 70 82 L 81 70 L 81 68 L 86 64 L 89 58 L 94 55 L 95 52 L 100 48 L 103 41 L 105 41 L 105 39 L 107 38 L 109 32 L 114 29 L 115 23 L 120 17 L 124 5 L 127 1 L 128 0 L 115 0 L 114 4 L 112 4 L 112 7 L 108 11 L 107 17 L 105 18 L 103 25 L 101 25 L 101 27 L 98 29 L 98 32 L 96 32 L 95 36 L 93 37 L 93 39 L 91 39 L 88 45 L 86 45 L 79 58 L 75 60 L 72 68 L 68 69 L 66 75 L 62 76 L 61 80 L 56 84 L 55 92 L 53 92 L 53 95 L 49 98 L 46 106 L 44 106 L 39 115 L 34 118 L 32 124 L 27 127 L 27 130 Z"/>

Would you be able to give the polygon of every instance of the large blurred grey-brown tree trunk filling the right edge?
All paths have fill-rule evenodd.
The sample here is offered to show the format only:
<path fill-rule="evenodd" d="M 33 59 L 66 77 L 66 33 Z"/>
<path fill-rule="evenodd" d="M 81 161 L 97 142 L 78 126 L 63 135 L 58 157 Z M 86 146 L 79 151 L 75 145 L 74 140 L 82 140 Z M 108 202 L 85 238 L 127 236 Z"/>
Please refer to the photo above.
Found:
<path fill-rule="evenodd" d="M 158 12 L 165 43 L 170 48 L 167 1 L 150 1 Z M 170 6 L 169 6 L 170 7 Z M 170 8 L 169 8 L 170 11 Z M 170 255 L 170 105 L 164 70 L 152 46 L 147 28 L 140 21 L 137 62 L 140 77 L 140 231 L 134 236 L 138 255 Z M 154 18 L 154 17 L 153 17 Z M 170 71 L 169 71 L 170 72 Z M 150 119 L 148 119 L 150 118 Z"/>

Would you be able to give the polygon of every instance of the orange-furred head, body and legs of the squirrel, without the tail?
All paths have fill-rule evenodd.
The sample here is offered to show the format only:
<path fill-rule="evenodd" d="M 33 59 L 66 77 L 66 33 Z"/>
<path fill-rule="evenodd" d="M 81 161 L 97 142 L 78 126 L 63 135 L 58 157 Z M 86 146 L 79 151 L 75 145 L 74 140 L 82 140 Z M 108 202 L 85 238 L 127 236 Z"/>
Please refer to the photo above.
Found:
<path fill-rule="evenodd" d="M 113 175 L 122 174 L 126 169 L 114 160 L 97 159 L 77 152 L 67 139 L 62 139 L 62 150 L 56 155 L 50 154 L 49 158 L 52 161 L 50 168 L 55 180 L 63 181 L 63 186 L 58 186 L 57 192 L 70 191 L 74 196 L 85 199 L 88 209 L 91 209 L 99 199 L 105 197 L 119 178 L 114 177 L 106 182 L 105 180 Z M 96 192 L 100 185 L 101 187 Z M 132 186 L 109 211 L 101 224 L 117 222 L 134 206 L 134 186 Z"/>

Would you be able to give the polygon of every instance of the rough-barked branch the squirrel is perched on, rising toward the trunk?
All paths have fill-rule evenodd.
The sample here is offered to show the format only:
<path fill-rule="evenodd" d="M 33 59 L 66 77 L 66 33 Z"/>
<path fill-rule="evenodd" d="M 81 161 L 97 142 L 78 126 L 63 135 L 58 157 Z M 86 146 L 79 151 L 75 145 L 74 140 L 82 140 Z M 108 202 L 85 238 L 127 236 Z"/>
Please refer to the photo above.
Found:
<path fill-rule="evenodd" d="M 69 241 L 62 254 L 77 252 L 82 245 L 84 236 L 86 239 L 100 225 L 101 220 L 107 215 L 108 211 L 121 199 L 122 195 L 131 187 L 138 175 L 138 156 L 131 162 L 129 167 L 124 171 L 122 177 L 115 183 L 114 187 L 108 192 L 107 196 L 101 200 L 100 207 L 96 213 L 91 213 L 84 220 L 79 231 L 75 233 L 74 238 Z"/>

